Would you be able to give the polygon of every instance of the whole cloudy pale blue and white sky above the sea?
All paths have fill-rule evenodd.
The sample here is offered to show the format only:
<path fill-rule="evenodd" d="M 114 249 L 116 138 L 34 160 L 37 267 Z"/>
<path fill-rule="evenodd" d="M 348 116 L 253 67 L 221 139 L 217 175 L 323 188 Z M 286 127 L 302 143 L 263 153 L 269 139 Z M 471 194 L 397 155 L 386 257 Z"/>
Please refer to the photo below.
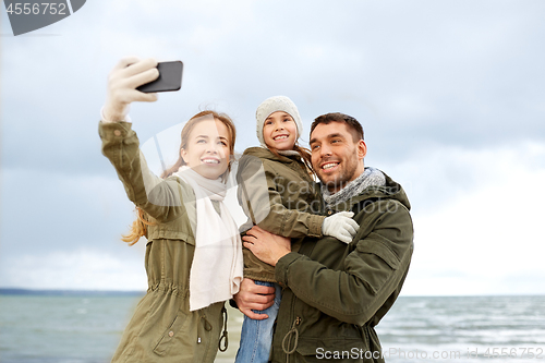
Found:
<path fill-rule="evenodd" d="M 545 2 L 87 1 L 16 37 L 0 13 L 0 288 L 147 288 L 98 137 L 108 73 L 137 56 L 184 63 L 181 90 L 131 106 L 143 148 L 211 108 L 242 153 L 276 95 L 303 144 L 351 114 L 412 204 L 403 295 L 545 293 Z"/>

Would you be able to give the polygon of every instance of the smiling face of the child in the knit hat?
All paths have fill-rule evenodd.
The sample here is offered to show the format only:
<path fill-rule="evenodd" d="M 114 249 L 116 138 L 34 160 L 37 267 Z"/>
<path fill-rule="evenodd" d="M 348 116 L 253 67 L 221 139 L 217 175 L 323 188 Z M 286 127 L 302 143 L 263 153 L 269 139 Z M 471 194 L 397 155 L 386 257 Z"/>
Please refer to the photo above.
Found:
<path fill-rule="evenodd" d="M 265 119 L 263 140 L 270 148 L 292 150 L 298 138 L 298 126 L 289 113 L 276 111 Z"/>

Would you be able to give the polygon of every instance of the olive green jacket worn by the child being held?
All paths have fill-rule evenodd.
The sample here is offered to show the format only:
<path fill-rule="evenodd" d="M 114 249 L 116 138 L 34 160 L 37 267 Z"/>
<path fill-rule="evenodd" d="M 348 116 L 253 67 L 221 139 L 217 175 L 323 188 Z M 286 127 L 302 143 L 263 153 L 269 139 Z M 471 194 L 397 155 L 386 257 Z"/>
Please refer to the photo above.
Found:
<path fill-rule="evenodd" d="M 319 192 L 299 156 L 284 157 L 264 147 L 250 147 L 239 160 L 239 203 L 249 216 L 241 229 L 257 225 L 270 233 L 293 238 L 322 237 L 325 217 Z M 275 268 L 243 249 L 244 277 L 275 282 Z"/>

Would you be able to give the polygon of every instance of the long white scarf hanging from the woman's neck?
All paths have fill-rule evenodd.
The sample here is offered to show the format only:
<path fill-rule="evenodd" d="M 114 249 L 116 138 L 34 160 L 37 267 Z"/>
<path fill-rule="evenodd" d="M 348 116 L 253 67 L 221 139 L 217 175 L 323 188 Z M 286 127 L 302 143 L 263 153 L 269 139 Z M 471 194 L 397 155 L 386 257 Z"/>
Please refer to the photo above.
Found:
<path fill-rule="evenodd" d="M 174 176 L 195 193 L 195 255 L 190 270 L 190 311 L 229 300 L 242 281 L 242 242 L 237 223 L 223 204 L 227 186 L 183 166 Z M 211 201 L 219 201 L 221 216 Z"/>

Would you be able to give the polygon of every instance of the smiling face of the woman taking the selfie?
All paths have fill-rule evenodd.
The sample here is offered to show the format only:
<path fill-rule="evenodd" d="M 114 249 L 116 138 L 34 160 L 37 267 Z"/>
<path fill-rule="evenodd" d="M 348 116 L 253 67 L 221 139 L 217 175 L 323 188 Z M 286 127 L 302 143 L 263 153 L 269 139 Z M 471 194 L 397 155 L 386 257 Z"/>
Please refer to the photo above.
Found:
<path fill-rule="evenodd" d="M 218 179 L 229 166 L 229 130 L 218 120 L 201 121 L 193 126 L 181 150 L 185 164 L 208 179 Z"/>

